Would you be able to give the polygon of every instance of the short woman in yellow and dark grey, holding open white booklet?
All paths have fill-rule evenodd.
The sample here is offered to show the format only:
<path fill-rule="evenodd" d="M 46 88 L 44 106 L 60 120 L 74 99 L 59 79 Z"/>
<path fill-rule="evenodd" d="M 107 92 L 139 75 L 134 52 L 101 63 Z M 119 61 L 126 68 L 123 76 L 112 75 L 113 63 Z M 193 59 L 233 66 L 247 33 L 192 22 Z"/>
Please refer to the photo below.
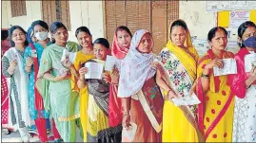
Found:
<path fill-rule="evenodd" d="M 93 42 L 94 55 L 97 59 L 89 60 L 91 63 L 105 63 L 108 54 L 108 40 L 104 38 L 96 39 Z M 102 80 L 85 80 L 88 68 L 82 67 L 79 70 L 78 87 L 83 90 L 88 86 L 89 101 L 87 122 L 87 142 L 121 142 L 120 127 L 112 128 L 108 125 L 108 96 L 109 96 L 109 76 L 102 74 Z M 85 95 L 86 96 L 86 95 Z"/>

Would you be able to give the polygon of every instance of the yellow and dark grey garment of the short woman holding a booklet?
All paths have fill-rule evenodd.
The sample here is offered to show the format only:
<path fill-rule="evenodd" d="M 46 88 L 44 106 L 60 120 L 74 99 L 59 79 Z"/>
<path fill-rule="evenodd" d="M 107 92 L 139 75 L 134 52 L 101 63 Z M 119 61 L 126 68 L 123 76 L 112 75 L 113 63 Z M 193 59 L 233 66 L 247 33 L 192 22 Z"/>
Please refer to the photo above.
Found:
<path fill-rule="evenodd" d="M 91 63 L 105 61 L 92 59 Z M 87 80 L 88 84 L 88 109 L 87 109 L 87 142 L 121 142 L 122 126 L 109 127 L 108 125 L 108 100 L 109 83 L 104 80 Z"/>

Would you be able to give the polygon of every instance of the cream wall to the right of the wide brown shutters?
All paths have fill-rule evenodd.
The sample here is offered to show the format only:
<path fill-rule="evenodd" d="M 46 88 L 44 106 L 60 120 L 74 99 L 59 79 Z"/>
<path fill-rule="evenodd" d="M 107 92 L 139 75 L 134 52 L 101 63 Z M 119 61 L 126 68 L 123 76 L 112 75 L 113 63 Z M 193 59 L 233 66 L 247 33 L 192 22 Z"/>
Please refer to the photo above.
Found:
<path fill-rule="evenodd" d="M 191 37 L 196 38 L 193 45 L 196 47 L 199 56 L 203 56 L 209 45 L 207 43 L 207 33 L 212 27 L 217 26 L 217 12 L 206 11 L 206 1 L 180 1 L 180 18 L 185 20 L 189 28 Z M 231 30 L 228 38 L 226 50 L 236 53 L 239 50 L 236 39 L 233 35 L 235 30 Z"/>

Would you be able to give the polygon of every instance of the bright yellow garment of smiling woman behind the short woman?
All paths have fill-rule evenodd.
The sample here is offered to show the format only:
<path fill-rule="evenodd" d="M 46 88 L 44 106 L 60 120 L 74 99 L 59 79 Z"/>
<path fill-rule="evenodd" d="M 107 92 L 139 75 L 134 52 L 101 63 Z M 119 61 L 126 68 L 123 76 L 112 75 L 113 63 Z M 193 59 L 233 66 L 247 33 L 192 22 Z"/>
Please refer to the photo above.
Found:
<path fill-rule="evenodd" d="M 81 51 L 78 51 L 76 54 L 76 58 L 74 61 L 74 67 L 78 71 L 83 65 L 83 63 L 88 62 L 90 59 L 94 58 L 94 55 L 86 55 Z M 89 93 L 88 88 L 83 88 L 79 90 L 77 86 L 77 79 L 72 75 L 71 81 L 71 89 L 72 91 L 76 91 L 80 95 L 80 120 L 83 128 L 83 136 L 84 141 L 87 142 L 87 118 L 88 118 L 88 100 L 89 100 Z"/>

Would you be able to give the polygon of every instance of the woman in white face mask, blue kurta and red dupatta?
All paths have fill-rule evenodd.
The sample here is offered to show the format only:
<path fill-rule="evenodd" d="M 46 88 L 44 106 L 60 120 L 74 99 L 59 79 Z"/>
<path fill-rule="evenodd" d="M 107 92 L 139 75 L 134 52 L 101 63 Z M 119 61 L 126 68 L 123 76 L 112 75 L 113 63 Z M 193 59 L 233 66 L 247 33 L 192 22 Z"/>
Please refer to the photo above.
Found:
<path fill-rule="evenodd" d="M 39 135 L 39 139 L 41 142 L 48 141 L 47 134 L 47 118 L 49 118 L 49 111 L 44 110 L 43 99 L 39 95 L 37 89 L 34 86 L 35 80 L 37 78 L 37 73 L 40 65 L 41 56 L 43 50 L 46 46 L 51 45 L 49 42 L 49 27 L 48 24 L 44 21 L 38 20 L 34 21 L 31 24 L 31 29 L 33 34 L 32 37 L 35 36 L 36 42 L 30 44 L 25 49 L 24 52 L 24 60 L 23 60 L 23 68 L 26 73 L 29 74 L 29 107 L 30 107 L 30 117 L 34 119 L 35 126 Z M 49 121 L 49 120 L 48 120 Z M 60 140 L 60 134 L 56 130 L 53 121 L 53 134 L 55 140 Z"/>

